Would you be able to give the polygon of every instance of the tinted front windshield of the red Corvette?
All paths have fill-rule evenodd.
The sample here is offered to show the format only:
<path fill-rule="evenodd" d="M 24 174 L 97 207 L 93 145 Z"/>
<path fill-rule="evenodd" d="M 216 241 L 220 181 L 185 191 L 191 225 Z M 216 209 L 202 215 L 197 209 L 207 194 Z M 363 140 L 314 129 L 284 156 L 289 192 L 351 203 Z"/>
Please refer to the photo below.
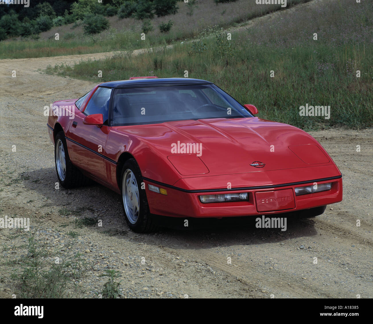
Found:
<path fill-rule="evenodd" d="M 253 117 L 214 84 L 114 89 L 112 126 Z"/>

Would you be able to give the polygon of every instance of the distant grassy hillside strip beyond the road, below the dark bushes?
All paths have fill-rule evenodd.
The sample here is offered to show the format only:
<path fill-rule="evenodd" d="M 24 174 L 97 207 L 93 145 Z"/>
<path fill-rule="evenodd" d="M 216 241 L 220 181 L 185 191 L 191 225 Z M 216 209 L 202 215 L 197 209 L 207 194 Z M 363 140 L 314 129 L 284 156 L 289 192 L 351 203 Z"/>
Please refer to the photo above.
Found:
<path fill-rule="evenodd" d="M 225 28 L 308 1 L 311 0 L 288 0 L 287 7 L 282 8 L 279 5 L 256 5 L 255 1 L 247 0 L 219 5 L 215 5 L 213 0 L 204 0 L 197 3 L 192 16 L 187 15 L 187 6 L 179 3 L 179 12 L 176 15 L 151 20 L 155 28 L 154 31 L 147 33 L 145 40 L 141 40 L 141 21 L 134 18 L 118 19 L 115 16 L 109 18 L 112 28 L 99 35 L 84 35 L 82 27 L 75 28 L 73 24 L 70 24 L 54 27 L 42 33 L 40 40 L 2 41 L 0 42 L 0 59 L 88 54 L 170 44 L 198 37 L 202 31 L 209 29 L 212 25 Z M 174 23 L 171 31 L 167 34 L 161 33 L 158 26 L 170 19 Z M 56 32 L 60 34 L 59 40 L 55 40 Z"/>

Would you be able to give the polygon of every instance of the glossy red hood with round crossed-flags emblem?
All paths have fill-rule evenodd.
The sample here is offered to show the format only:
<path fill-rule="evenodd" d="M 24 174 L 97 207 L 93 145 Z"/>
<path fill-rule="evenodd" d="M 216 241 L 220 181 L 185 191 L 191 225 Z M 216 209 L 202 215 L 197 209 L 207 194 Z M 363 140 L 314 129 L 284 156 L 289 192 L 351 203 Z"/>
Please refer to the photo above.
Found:
<path fill-rule="evenodd" d="M 116 128 L 145 141 L 153 152 L 171 163 L 182 176 L 334 164 L 322 146 L 306 132 L 257 117 L 172 121 Z M 182 144 L 188 147 L 187 144 L 193 143 L 195 152 L 185 153 Z M 264 166 L 251 165 L 258 163 Z"/>

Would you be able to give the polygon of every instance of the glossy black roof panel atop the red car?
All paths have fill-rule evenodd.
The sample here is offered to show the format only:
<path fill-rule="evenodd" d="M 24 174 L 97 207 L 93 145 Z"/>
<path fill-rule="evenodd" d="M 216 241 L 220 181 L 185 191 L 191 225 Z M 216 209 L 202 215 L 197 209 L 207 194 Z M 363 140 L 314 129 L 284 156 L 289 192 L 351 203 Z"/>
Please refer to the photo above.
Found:
<path fill-rule="evenodd" d="M 210 81 L 189 79 L 189 78 L 154 78 L 154 79 L 136 79 L 109 81 L 101 83 L 101 86 L 110 88 L 137 88 L 137 87 L 155 87 L 162 85 L 187 85 L 187 84 L 212 84 Z"/>

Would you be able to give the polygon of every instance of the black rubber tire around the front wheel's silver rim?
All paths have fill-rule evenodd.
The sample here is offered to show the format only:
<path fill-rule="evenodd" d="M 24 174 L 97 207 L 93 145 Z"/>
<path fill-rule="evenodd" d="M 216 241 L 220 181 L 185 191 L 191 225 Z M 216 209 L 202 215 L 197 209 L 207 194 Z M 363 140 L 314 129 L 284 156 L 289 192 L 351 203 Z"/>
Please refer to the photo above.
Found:
<path fill-rule="evenodd" d="M 127 215 L 126 208 L 125 208 L 125 198 L 123 196 L 123 187 L 126 187 L 126 184 L 123 186 L 123 177 L 127 170 L 130 170 L 132 174 L 135 176 L 136 184 L 138 188 L 138 212 L 137 212 L 137 219 L 134 220 L 131 215 Z M 127 174 L 126 174 L 127 175 Z M 145 189 L 141 189 L 141 184 L 144 182 L 140 167 L 138 166 L 135 159 L 128 159 L 122 168 L 122 172 L 120 175 L 120 193 L 122 195 L 121 202 L 123 208 L 123 214 L 128 224 L 128 227 L 131 228 L 132 231 L 137 233 L 149 233 L 154 232 L 159 228 L 159 223 L 156 219 L 156 216 L 150 214 L 149 211 L 149 204 L 146 197 Z M 131 196 L 132 197 L 132 196 Z M 132 198 L 131 198 L 132 200 Z"/>

